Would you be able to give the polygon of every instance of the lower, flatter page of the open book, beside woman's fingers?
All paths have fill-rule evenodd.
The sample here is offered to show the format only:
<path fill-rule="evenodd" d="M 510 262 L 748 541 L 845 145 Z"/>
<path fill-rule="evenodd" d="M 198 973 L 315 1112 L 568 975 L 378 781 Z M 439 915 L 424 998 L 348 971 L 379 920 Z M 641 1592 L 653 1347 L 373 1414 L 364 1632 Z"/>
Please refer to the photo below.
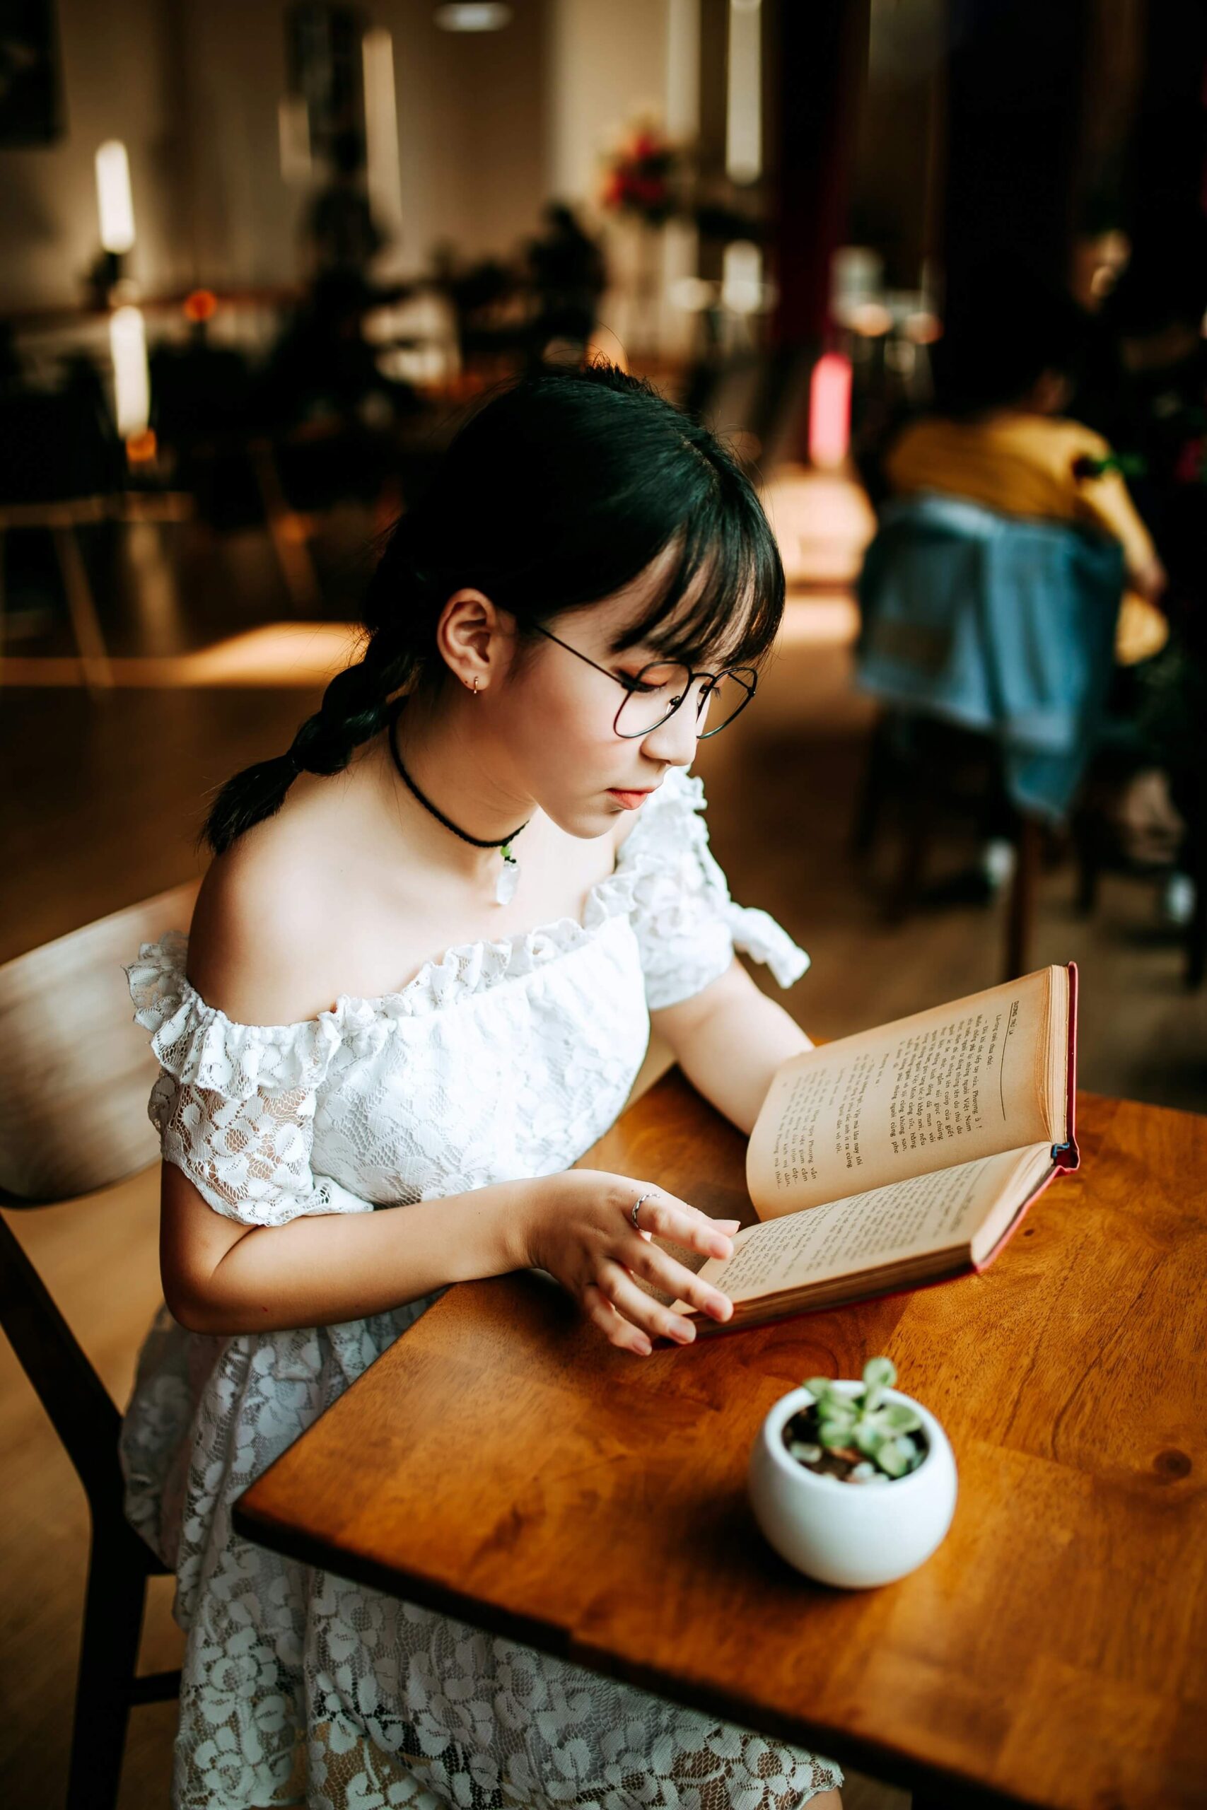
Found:
<path fill-rule="evenodd" d="M 737 1305 L 928 1251 L 968 1251 L 984 1224 L 1010 1224 L 1031 1175 L 1050 1164 L 1048 1144 L 1037 1144 L 747 1225 L 733 1256 L 709 1258 L 700 1276 Z"/>

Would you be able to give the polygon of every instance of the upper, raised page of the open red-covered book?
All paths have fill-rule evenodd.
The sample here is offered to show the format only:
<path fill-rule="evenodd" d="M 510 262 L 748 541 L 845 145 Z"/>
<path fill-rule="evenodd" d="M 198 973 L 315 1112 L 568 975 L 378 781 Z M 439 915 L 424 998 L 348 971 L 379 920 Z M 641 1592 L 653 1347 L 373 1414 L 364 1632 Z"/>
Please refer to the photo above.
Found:
<path fill-rule="evenodd" d="M 1041 968 L 784 1062 L 746 1158 L 760 1218 L 1064 1142 L 1064 1110 L 1050 1108 L 1050 1043 L 1068 1014 L 1053 1015 L 1053 994 L 1068 997 L 1066 968 Z M 1062 1064 L 1064 1044 L 1059 1055 Z"/>

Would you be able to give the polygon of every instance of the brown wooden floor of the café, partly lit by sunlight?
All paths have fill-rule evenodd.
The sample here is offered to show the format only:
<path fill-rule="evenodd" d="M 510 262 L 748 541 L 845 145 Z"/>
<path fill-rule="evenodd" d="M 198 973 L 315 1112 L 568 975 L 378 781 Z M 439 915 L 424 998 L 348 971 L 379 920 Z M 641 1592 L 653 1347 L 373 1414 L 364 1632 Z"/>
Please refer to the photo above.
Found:
<path fill-rule="evenodd" d="M 849 686 L 851 605 L 841 579 L 860 510 L 841 491 L 820 501 L 822 529 L 816 494 L 789 489 L 780 498 L 776 525 L 791 570 L 811 588 L 793 605 L 782 653 L 742 729 L 706 744 L 697 769 L 735 898 L 776 914 L 813 954 L 789 1008 L 816 1035 L 836 1037 L 997 979 L 1001 907 L 932 910 L 885 927 L 849 860 L 869 717 Z M 827 536 L 834 519 L 847 527 Z M 221 610 L 215 603 L 223 635 L 284 614 L 271 561 L 262 548 L 252 552 L 242 592 L 233 599 L 223 592 Z M 181 572 L 168 568 L 170 559 L 159 568 L 145 552 L 139 583 L 152 590 L 157 583 L 161 594 L 166 586 L 179 605 Z M 188 572 L 204 592 L 204 563 Z M 836 581 L 832 594 L 827 579 Z M 217 583 L 214 574 L 208 583 Z M 172 655 L 203 641 L 190 621 L 188 632 L 176 641 L 163 634 L 150 652 Z M 127 628 L 121 650 L 138 657 L 147 648 Z M 34 659 L 38 652 L 36 641 L 22 648 Z M 199 871 L 204 793 L 248 760 L 282 749 L 317 697 L 313 675 L 293 673 L 284 688 L 239 686 L 230 666 L 219 661 L 217 670 L 201 686 L 121 686 L 100 700 L 45 684 L 0 691 L 0 959 Z M 948 854 L 954 863 L 961 858 L 957 847 Z M 1203 1110 L 1207 994 L 1182 990 L 1182 956 L 1158 925 L 1155 889 L 1107 883 L 1089 923 L 1075 918 L 1071 892 L 1068 869 L 1046 874 L 1035 963 L 1075 957 L 1082 967 L 1082 1084 Z M 159 1298 L 154 1176 L 81 1207 L 24 1216 L 18 1229 L 123 1401 Z M 0 1452 L 0 1805 L 43 1810 L 62 1801 L 65 1781 L 87 1511 L 4 1341 Z M 177 1651 L 168 1586 L 159 1582 L 143 1663 L 170 1665 Z M 172 1721 L 170 1705 L 134 1714 L 125 1810 L 168 1803 Z M 847 1803 L 890 1810 L 905 1797 L 854 1781 Z"/>

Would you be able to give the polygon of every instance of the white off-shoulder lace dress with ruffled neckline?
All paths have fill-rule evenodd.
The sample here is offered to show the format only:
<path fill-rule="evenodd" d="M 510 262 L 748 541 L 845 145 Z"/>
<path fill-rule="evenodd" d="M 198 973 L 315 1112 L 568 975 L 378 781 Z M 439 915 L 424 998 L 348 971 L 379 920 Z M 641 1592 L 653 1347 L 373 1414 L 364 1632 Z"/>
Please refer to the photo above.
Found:
<path fill-rule="evenodd" d="M 145 945 L 128 977 L 165 1160 L 250 1225 L 566 1169 L 623 1108 L 650 1008 L 708 986 L 735 945 L 782 985 L 805 968 L 731 903 L 702 807 L 699 780 L 668 775 L 581 923 L 452 948 L 302 1024 L 232 1023 L 186 981 L 183 936 Z M 840 1783 L 813 1754 L 235 1537 L 235 1499 L 436 1298 L 235 1338 L 156 1321 L 123 1464 L 188 1633 L 174 1803 L 793 1810 Z"/>

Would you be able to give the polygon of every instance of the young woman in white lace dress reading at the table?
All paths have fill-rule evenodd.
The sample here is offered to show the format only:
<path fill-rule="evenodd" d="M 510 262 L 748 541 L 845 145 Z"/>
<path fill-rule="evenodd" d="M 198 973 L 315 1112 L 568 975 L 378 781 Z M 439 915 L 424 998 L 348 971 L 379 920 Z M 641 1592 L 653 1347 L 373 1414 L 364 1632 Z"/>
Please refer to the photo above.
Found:
<path fill-rule="evenodd" d="M 651 1015 L 746 1131 L 809 1046 L 733 950 L 782 985 L 807 957 L 731 903 L 684 776 L 749 700 L 782 597 L 702 427 L 610 367 L 516 384 L 394 529 L 360 662 L 219 795 L 188 943 L 130 968 L 161 1062 L 170 1318 L 125 1464 L 188 1631 L 177 1806 L 838 1803 L 829 1761 L 230 1526 L 452 1281 L 546 1269 L 635 1356 L 693 1336 L 635 1276 L 729 1316 L 648 1234 L 727 1254 L 735 1222 L 570 1164 Z"/>

